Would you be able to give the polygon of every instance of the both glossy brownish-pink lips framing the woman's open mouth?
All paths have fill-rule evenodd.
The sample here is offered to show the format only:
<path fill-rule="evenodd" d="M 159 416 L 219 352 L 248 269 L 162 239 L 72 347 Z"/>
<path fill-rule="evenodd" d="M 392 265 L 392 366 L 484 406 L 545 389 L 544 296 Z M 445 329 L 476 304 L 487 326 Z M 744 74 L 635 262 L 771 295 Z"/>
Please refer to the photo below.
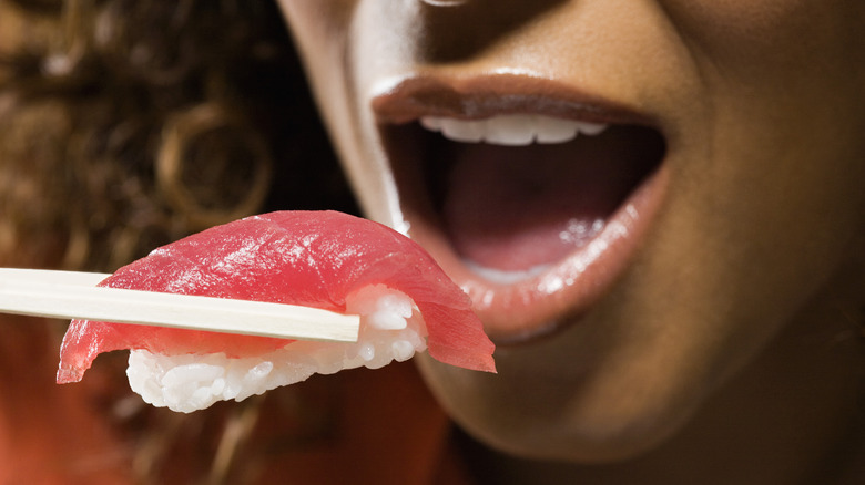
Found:
<path fill-rule="evenodd" d="M 607 219 L 586 246 L 539 274 L 511 283 L 489 281 L 470 270 L 455 254 L 426 196 L 419 174 L 405 161 L 417 147 L 389 143 L 388 130 L 420 116 L 482 118 L 531 113 L 593 123 L 659 124 L 635 110 L 553 81 L 522 75 L 474 78 L 416 76 L 400 80 L 373 99 L 391 162 L 409 236 L 424 246 L 442 269 L 471 297 L 475 311 L 497 344 L 518 344 L 561 330 L 602 298 L 628 268 L 645 238 L 650 221 L 666 192 L 662 161 Z M 411 151 L 415 153 L 411 153 Z"/>

